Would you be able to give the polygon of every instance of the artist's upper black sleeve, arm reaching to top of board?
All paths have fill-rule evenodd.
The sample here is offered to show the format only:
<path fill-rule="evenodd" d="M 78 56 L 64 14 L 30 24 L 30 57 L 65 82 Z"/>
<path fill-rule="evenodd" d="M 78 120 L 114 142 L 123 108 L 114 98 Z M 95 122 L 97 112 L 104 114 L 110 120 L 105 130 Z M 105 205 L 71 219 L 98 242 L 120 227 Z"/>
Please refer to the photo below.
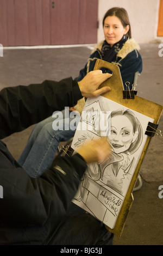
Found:
<path fill-rule="evenodd" d="M 4 88 L 0 92 L 0 138 L 38 123 L 53 111 L 74 106 L 81 98 L 78 83 L 72 78 Z"/>

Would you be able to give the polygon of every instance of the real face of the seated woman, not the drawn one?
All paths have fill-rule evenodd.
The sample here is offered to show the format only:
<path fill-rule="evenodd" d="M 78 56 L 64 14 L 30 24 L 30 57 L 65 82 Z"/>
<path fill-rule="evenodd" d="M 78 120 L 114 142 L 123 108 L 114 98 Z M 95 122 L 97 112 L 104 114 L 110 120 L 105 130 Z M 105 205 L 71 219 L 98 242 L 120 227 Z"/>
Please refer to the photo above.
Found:
<path fill-rule="evenodd" d="M 129 25 L 123 27 L 122 22 L 116 16 L 108 16 L 104 20 L 104 36 L 106 42 L 112 47 L 116 42 L 120 41 L 123 35 L 129 31 Z"/>

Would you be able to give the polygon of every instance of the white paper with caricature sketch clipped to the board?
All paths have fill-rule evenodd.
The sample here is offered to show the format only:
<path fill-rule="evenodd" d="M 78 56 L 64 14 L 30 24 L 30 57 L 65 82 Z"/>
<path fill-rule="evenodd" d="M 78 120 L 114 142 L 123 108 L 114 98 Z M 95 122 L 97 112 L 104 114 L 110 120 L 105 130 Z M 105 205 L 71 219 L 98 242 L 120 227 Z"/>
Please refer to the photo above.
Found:
<path fill-rule="evenodd" d="M 111 229 L 145 146 L 149 121 L 154 120 L 103 96 L 86 100 L 71 147 L 76 151 L 87 141 L 106 136 L 111 154 L 104 162 L 88 165 L 72 202 Z"/>

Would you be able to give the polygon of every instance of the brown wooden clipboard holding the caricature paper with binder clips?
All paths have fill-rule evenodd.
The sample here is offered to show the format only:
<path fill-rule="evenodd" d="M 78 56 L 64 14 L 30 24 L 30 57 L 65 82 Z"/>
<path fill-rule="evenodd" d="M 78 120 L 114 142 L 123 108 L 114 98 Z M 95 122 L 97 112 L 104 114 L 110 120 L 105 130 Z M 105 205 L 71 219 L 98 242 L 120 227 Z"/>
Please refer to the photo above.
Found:
<path fill-rule="evenodd" d="M 108 80 L 106 80 L 101 87 L 103 86 L 109 86 L 111 88 L 111 91 L 108 93 L 103 94 L 102 96 L 106 97 L 109 100 L 115 101 L 125 107 L 128 107 L 130 109 L 133 109 L 134 111 L 137 111 L 143 115 L 147 115 L 147 117 L 150 117 L 154 119 L 154 124 L 158 124 L 162 109 L 163 107 L 161 105 L 158 105 L 157 103 L 154 103 L 152 101 L 143 99 L 142 97 L 136 96 L 134 99 L 123 99 L 123 83 L 122 83 L 122 77 L 120 73 L 120 69 L 117 65 L 111 64 L 108 62 L 105 62 L 104 60 L 97 60 L 95 64 L 94 70 L 98 70 L 101 68 L 107 68 L 112 71 L 112 76 Z M 136 184 L 137 176 L 139 175 L 139 170 L 143 161 L 143 157 L 146 154 L 149 142 L 151 141 L 151 136 L 148 136 L 145 147 L 143 148 L 142 154 L 140 156 L 139 162 L 137 163 L 133 178 L 131 179 L 128 192 L 126 194 L 126 197 L 124 199 L 120 214 L 118 215 L 116 224 L 114 229 L 109 229 L 112 233 L 120 236 L 122 234 L 124 224 L 126 222 L 127 215 L 129 213 L 129 209 L 131 204 L 133 203 L 133 188 Z"/>

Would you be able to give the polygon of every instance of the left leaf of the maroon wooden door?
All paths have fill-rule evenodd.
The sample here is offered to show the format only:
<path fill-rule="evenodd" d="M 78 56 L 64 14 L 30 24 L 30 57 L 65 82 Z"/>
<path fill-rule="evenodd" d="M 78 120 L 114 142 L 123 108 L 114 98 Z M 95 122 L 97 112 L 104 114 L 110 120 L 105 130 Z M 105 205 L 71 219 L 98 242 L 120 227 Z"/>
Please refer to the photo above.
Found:
<path fill-rule="evenodd" d="M 0 40 L 3 46 L 43 44 L 47 1 L 0 0 Z M 46 17 L 47 19 L 47 17 Z"/>

